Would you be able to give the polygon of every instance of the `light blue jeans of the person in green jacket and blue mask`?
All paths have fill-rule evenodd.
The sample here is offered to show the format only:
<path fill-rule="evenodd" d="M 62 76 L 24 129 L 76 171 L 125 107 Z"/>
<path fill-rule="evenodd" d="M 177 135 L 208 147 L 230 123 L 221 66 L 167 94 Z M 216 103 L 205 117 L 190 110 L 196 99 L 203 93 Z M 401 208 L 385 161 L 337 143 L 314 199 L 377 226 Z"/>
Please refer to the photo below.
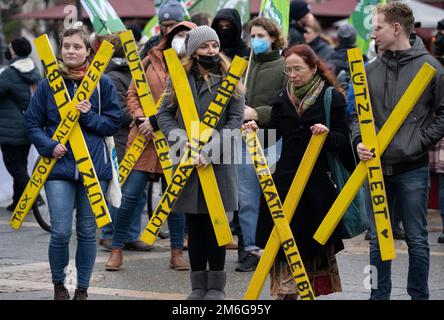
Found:
<path fill-rule="evenodd" d="M 281 149 L 282 140 L 279 140 L 275 146 L 264 150 L 269 167 L 276 164 Z M 253 251 L 259 249 L 256 246 L 256 228 L 262 190 L 254 166 L 249 163 L 251 161 L 247 162 L 246 159 L 250 159 L 250 154 L 246 149 L 245 141 L 242 140 L 242 162 L 239 161 L 236 166 L 239 186 L 238 215 L 245 251 Z"/>

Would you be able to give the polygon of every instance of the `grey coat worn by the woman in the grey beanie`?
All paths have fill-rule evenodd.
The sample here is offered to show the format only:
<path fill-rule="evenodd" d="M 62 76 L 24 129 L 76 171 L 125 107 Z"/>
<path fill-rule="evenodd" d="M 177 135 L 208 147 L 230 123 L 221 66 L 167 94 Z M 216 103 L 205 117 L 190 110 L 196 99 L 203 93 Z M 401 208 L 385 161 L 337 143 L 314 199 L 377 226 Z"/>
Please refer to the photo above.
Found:
<path fill-rule="evenodd" d="M 193 73 L 193 71 L 188 75 L 188 81 L 193 92 L 199 118 L 202 120 L 202 117 L 207 111 L 210 102 L 216 96 L 216 90 L 222 81 L 222 76 L 210 76 L 210 90 L 208 90 L 208 85 L 206 83 L 203 83 L 201 86 L 199 85 L 198 75 Z M 169 90 L 169 88 L 171 88 L 171 80 L 168 81 L 166 90 Z M 224 204 L 225 211 L 227 212 L 237 210 L 238 208 L 237 171 L 236 166 L 234 165 L 234 153 L 230 155 L 231 164 L 222 164 L 223 150 L 222 146 L 218 144 L 221 143 L 223 139 L 222 136 L 226 136 L 229 134 L 229 132 L 231 132 L 231 130 L 239 129 L 241 127 L 243 123 L 244 106 L 245 101 L 243 96 L 240 98 L 231 98 L 231 101 L 228 103 L 228 106 L 223 112 L 222 117 L 216 127 L 217 133 L 215 134 L 219 134 L 221 139 L 211 140 L 207 144 L 208 146 L 213 146 L 221 150 L 220 161 L 218 162 L 219 164 L 213 164 L 213 169 L 216 175 L 222 202 Z M 185 140 L 186 132 L 184 131 L 185 124 L 182 114 L 180 110 L 178 110 L 177 103 L 172 104 L 167 95 L 165 95 L 156 117 L 158 125 L 162 130 L 162 133 L 167 138 L 170 147 L 176 143 L 176 139 L 173 137 L 173 135 L 170 136 L 170 133 L 172 133 L 173 130 L 177 133 L 177 129 L 183 129 L 180 130 L 180 140 L 182 142 L 187 141 Z M 225 130 L 221 131 L 222 129 Z M 177 143 L 179 143 L 179 141 Z M 174 205 L 174 211 L 185 213 L 208 213 L 208 208 L 196 170 L 193 171 L 184 190 L 177 199 L 177 202 Z"/>

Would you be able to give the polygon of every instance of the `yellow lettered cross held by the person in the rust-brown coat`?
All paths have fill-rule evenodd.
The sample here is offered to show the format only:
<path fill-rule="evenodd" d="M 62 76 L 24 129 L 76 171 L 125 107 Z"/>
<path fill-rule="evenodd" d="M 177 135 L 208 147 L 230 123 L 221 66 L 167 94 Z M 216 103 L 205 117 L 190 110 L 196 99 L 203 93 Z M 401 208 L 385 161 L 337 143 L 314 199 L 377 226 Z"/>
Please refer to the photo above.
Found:
<path fill-rule="evenodd" d="M 150 117 L 157 113 L 157 106 L 155 105 L 151 89 L 146 80 L 145 70 L 140 56 L 137 51 L 136 42 L 131 30 L 119 34 L 122 47 L 125 51 L 126 59 L 128 61 L 133 83 L 136 87 L 137 95 L 140 99 L 145 117 Z M 161 100 L 161 99 L 160 99 Z M 154 146 L 156 148 L 157 156 L 167 183 L 170 183 L 172 177 L 173 166 L 169 156 L 168 143 L 160 130 L 154 133 Z M 139 160 L 143 150 L 147 146 L 148 141 L 142 134 L 138 134 L 130 148 L 127 150 L 125 157 L 119 164 L 119 180 L 120 185 L 123 186 L 130 172 Z"/>

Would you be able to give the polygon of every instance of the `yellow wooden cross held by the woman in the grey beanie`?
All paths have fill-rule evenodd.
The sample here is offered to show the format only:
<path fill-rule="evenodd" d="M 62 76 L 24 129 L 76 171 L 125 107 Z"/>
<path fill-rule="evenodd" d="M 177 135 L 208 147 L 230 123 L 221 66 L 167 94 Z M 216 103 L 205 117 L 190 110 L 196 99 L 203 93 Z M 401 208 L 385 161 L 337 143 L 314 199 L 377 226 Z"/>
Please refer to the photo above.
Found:
<path fill-rule="evenodd" d="M 179 104 L 185 103 L 187 106 L 194 107 L 195 104 L 191 94 L 191 90 L 189 89 L 188 80 L 180 61 L 177 58 L 177 55 L 172 50 L 167 50 L 164 54 L 168 63 L 168 69 L 170 70 L 171 77 L 173 81 L 178 82 L 175 84 L 175 88 L 176 93 L 178 94 Z M 191 139 L 191 150 L 193 150 L 193 152 L 191 150 L 186 151 L 186 154 L 182 157 L 179 166 L 176 168 L 173 174 L 172 184 L 175 183 L 175 181 L 176 183 L 177 181 L 179 182 L 179 184 L 176 184 L 175 186 L 178 188 L 174 189 L 175 192 L 178 191 L 178 194 L 176 195 L 174 192 L 170 193 L 167 188 L 151 220 L 149 221 L 148 225 L 145 228 L 145 231 L 142 234 L 141 239 L 146 243 L 152 244 L 156 240 L 156 237 L 162 229 L 166 218 L 170 214 L 175 201 L 177 200 L 180 192 L 185 186 L 186 181 L 191 176 L 192 170 L 194 169 L 194 166 L 191 165 L 192 153 L 194 153 L 195 156 L 196 150 L 199 151 L 202 146 L 208 142 L 209 138 L 211 137 L 211 133 L 213 132 L 220 119 L 220 116 L 227 107 L 230 98 L 234 93 L 237 83 L 245 72 L 246 65 L 246 60 L 239 57 L 235 57 L 235 59 L 233 60 L 227 76 L 223 79 L 221 85 L 217 89 L 217 95 L 215 99 L 210 103 L 207 112 L 205 112 L 203 116 L 202 122 L 199 124 L 199 132 L 203 135 L 200 136 L 200 139 Z M 178 88 L 180 88 L 180 90 Z M 195 107 L 193 109 L 193 107 L 188 107 L 187 109 L 192 109 L 195 112 L 194 115 L 190 115 L 189 111 L 181 109 L 184 120 L 185 117 L 187 117 L 188 119 L 195 119 L 196 116 L 197 119 L 199 119 L 197 115 L 197 110 L 195 109 Z M 187 123 L 186 120 L 185 123 Z M 190 134 L 191 129 L 187 128 L 187 132 L 188 134 Z M 200 181 L 202 183 L 202 189 L 204 191 L 205 199 L 209 200 L 207 201 L 207 206 L 208 210 L 210 211 L 213 227 L 215 228 L 218 244 L 220 246 L 228 244 L 232 241 L 232 236 L 225 211 L 223 209 L 219 189 L 215 181 L 213 168 L 211 166 L 200 168 L 198 169 L 198 173 Z M 186 178 L 185 181 L 183 180 L 184 178 Z M 208 183 L 207 181 L 210 181 L 210 183 Z M 170 199 L 172 201 L 168 201 L 167 199 Z M 212 215 L 212 213 L 215 213 L 215 215 Z"/>

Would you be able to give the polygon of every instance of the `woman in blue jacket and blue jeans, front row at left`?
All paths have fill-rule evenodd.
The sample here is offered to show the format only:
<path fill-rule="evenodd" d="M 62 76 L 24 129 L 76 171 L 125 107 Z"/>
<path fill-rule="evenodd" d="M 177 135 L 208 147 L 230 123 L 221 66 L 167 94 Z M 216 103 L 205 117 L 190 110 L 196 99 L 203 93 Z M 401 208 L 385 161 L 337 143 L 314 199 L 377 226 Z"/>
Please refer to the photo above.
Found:
<path fill-rule="evenodd" d="M 61 33 L 61 59 L 58 65 L 71 99 L 87 75 L 92 61 L 89 37 L 81 22 Z M 75 108 L 79 111 L 78 124 L 102 191 L 105 193 L 112 179 L 105 137 L 115 134 L 121 122 L 121 107 L 112 80 L 107 75 L 102 75 L 91 98 L 80 101 Z M 41 156 L 58 159 L 45 183 L 51 217 L 48 255 L 54 299 L 69 300 L 69 292 L 64 282 L 70 258 L 69 242 L 75 208 L 77 289 L 74 300 L 86 300 L 97 253 L 96 219 L 91 210 L 87 190 L 79 176 L 70 142 L 63 145 L 51 138 L 61 121 L 57 109 L 48 81 L 40 81 L 26 111 L 26 132 Z"/>

